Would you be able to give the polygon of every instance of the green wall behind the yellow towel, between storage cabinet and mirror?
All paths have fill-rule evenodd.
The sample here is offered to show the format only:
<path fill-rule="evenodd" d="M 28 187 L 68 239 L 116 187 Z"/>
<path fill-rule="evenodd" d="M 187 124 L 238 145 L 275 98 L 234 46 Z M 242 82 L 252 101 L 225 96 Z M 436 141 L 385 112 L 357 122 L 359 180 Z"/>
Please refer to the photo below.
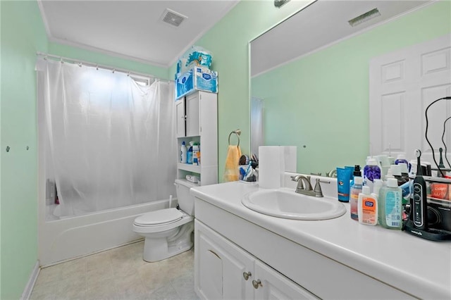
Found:
<path fill-rule="evenodd" d="M 218 71 L 218 179 L 222 181 L 228 135 L 240 128 L 240 147 L 249 154 L 249 41 L 288 18 L 310 1 L 290 1 L 275 8 L 273 1 L 240 1 L 195 44 L 213 53 Z M 171 68 L 171 74 L 175 67 Z M 235 141 L 235 140 L 234 140 Z"/>

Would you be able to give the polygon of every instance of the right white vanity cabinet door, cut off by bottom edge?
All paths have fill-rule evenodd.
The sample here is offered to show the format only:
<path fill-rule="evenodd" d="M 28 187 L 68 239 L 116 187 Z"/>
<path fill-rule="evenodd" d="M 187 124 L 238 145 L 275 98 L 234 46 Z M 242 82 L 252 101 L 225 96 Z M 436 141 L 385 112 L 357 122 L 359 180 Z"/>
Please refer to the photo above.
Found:
<path fill-rule="evenodd" d="M 255 299 L 319 299 L 261 261 L 255 263 L 252 285 Z"/>

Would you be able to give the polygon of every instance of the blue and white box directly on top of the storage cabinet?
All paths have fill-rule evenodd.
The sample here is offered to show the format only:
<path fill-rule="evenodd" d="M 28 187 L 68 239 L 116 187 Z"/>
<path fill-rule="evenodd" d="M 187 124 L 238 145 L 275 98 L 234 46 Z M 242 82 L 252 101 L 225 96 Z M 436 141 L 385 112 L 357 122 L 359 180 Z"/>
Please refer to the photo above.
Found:
<path fill-rule="evenodd" d="M 196 90 L 217 93 L 218 73 L 204 67 L 194 67 L 175 79 L 175 99 Z"/>

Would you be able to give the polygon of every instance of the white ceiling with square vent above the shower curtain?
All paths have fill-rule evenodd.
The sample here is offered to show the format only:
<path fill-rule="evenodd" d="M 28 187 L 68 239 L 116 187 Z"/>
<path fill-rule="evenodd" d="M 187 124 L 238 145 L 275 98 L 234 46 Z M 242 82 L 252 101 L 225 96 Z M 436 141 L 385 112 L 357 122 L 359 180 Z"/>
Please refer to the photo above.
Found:
<path fill-rule="evenodd" d="M 237 0 L 38 0 L 51 42 L 169 67 L 223 18 Z M 161 21 L 166 8 L 187 16 Z"/>

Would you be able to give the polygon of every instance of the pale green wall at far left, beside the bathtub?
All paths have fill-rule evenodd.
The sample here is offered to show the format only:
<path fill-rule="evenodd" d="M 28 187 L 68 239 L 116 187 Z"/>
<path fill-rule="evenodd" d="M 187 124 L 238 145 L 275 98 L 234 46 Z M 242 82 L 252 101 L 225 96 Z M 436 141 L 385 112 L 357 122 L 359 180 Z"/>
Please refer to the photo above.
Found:
<path fill-rule="evenodd" d="M 36 1 L 0 5 L 0 298 L 18 299 L 37 261 L 35 62 L 36 51 L 47 51 L 47 37 Z"/>

